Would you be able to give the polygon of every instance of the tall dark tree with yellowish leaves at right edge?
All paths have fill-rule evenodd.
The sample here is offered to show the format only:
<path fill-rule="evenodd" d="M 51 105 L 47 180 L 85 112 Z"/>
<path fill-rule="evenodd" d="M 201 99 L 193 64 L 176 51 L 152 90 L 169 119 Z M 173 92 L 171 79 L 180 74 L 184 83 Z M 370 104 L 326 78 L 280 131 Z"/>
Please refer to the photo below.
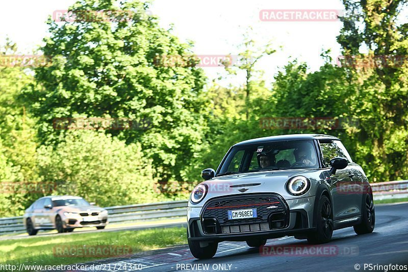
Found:
<path fill-rule="evenodd" d="M 354 92 L 350 110 L 360 118 L 353 135 L 358 159 L 372 181 L 406 178 L 408 170 L 407 24 L 399 20 L 406 1 L 344 0 L 338 37 Z M 367 54 L 360 54 L 365 48 Z"/>

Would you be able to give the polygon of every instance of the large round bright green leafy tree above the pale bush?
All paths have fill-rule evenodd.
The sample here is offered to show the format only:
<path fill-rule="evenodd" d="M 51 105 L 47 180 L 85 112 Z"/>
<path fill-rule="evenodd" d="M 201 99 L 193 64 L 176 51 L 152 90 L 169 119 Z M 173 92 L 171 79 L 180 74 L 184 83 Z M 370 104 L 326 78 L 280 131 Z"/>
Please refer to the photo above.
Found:
<path fill-rule="evenodd" d="M 52 63 L 36 69 L 38 85 L 27 93 L 35 101 L 32 112 L 40 116 L 41 142 L 63 139 L 65 131 L 53 129 L 55 118 L 147 119 L 148 130 L 106 132 L 126 143 L 140 142 L 158 179 L 182 181 L 185 168 L 201 151 L 205 77 L 194 65 L 158 61 L 163 56 L 194 57 L 191 43 L 180 42 L 146 13 L 148 3 L 115 3 L 81 0 L 70 8 L 77 20 L 48 20 L 50 36 L 41 50 Z M 86 14 L 94 16 L 85 19 L 84 11 L 95 11 Z M 100 11 L 109 19 L 98 16 Z"/>

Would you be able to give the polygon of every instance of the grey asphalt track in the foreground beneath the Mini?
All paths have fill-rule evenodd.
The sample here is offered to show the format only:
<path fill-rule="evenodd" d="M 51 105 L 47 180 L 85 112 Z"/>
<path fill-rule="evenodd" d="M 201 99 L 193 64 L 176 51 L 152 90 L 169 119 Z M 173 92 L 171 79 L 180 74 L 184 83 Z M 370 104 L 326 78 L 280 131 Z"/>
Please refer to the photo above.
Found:
<path fill-rule="evenodd" d="M 376 206 L 373 233 L 356 235 L 346 228 L 323 245 L 283 237 L 268 240 L 261 250 L 222 242 L 209 260 L 196 260 L 188 246 L 180 246 L 87 264 L 94 264 L 88 271 L 391 271 L 396 267 L 374 265 L 408 265 L 408 203 Z"/>

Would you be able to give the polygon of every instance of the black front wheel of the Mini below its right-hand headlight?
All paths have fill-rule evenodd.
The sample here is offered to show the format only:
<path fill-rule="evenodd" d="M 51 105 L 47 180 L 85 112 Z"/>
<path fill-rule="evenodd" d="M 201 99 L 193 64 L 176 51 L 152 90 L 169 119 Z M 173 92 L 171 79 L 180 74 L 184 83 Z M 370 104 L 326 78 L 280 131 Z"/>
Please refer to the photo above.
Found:
<path fill-rule="evenodd" d="M 334 230 L 333 209 L 330 200 L 325 195 L 320 197 L 315 218 L 317 230 L 308 235 L 308 242 L 319 244 L 330 241 Z"/>

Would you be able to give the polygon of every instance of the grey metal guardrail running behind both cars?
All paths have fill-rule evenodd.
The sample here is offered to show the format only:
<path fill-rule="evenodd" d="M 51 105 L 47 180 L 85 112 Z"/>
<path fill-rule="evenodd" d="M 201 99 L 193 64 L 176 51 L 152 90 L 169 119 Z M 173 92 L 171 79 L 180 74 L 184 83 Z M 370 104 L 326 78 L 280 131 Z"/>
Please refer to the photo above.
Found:
<path fill-rule="evenodd" d="M 374 200 L 400 199 L 408 197 L 408 180 L 388 181 L 371 184 Z M 152 204 L 136 204 L 106 207 L 109 222 L 132 222 L 156 220 L 161 218 L 184 217 L 187 214 L 187 201 L 169 201 Z M 24 231 L 22 216 L 0 218 L 0 234 Z"/>

